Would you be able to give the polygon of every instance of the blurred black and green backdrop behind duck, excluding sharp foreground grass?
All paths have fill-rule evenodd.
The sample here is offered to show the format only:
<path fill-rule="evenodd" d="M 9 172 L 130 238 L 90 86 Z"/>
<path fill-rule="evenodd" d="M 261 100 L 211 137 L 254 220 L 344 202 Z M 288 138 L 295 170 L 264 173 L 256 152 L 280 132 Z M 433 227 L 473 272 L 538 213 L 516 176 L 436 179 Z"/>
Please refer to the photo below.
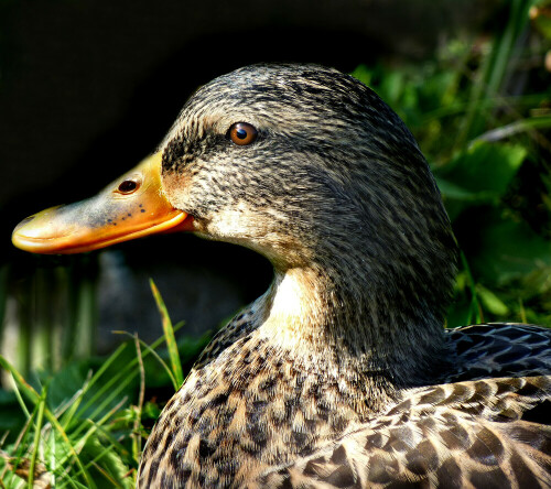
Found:
<path fill-rule="evenodd" d="M 198 86 L 250 63 L 334 66 L 404 119 L 463 250 L 447 326 L 551 326 L 550 50 L 551 3 L 537 0 L 0 0 L 0 351 L 14 369 L 3 365 L 0 436 L 14 443 L 32 419 L 14 414 L 14 371 L 36 392 L 50 384 L 58 405 L 128 343 L 112 330 L 163 335 L 150 278 L 185 322 L 184 370 L 207 332 L 266 290 L 263 259 L 192 236 L 78 257 L 10 242 L 28 215 L 134 166 Z M 172 387 L 159 366 L 147 370 L 154 419 Z"/>

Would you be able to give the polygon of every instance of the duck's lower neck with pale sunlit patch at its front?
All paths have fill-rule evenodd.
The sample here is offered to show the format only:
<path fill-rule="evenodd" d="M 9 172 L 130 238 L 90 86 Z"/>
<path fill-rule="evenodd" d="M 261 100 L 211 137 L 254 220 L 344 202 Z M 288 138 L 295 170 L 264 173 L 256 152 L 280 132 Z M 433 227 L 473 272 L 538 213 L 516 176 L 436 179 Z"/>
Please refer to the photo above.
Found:
<path fill-rule="evenodd" d="M 445 355 L 434 315 L 374 291 L 367 280 L 342 276 L 326 265 L 276 271 L 260 330 L 296 358 L 323 358 L 387 391 L 434 380 Z"/>

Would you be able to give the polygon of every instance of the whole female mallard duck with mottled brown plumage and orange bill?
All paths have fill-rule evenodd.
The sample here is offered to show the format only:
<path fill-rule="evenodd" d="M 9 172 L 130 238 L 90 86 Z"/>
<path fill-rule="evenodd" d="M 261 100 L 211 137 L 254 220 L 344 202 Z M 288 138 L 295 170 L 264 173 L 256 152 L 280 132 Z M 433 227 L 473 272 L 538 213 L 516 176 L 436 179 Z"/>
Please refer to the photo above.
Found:
<path fill-rule="evenodd" d="M 551 332 L 443 328 L 450 221 L 361 83 L 300 65 L 217 78 L 153 156 L 13 242 L 69 253 L 169 229 L 257 250 L 274 279 L 168 403 L 139 487 L 551 487 Z"/>

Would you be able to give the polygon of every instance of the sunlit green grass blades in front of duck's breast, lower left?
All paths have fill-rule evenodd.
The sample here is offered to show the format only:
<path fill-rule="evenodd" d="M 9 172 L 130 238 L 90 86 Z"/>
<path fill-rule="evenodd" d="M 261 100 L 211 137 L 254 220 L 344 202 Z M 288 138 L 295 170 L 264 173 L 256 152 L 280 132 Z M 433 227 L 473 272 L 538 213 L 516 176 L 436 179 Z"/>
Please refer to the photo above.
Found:
<path fill-rule="evenodd" d="M 142 441 L 161 411 L 156 402 L 145 402 L 145 384 L 160 382 L 145 372 L 155 372 L 160 363 L 169 372 L 163 385 L 174 377 L 166 356 L 155 351 L 165 338 L 174 338 L 170 324 L 168 336 L 151 346 L 133 338 L 107 359 L 71 363 L 55 374 L 42 372 L 32 384 L 0 357 L 0 367 L 13 379 L 12 393 L 0 398 L 0 419 L 10 419 L 18 404 L 22 413 L 2 426 L 13 433 L 3 432 L 3 487 L 22 487 L 23 480 L 31 487 L 33 480 L 60 488 L 134 487 Z M 176 348 L 186 361 L 208 339 L 183 339 Z"/>

